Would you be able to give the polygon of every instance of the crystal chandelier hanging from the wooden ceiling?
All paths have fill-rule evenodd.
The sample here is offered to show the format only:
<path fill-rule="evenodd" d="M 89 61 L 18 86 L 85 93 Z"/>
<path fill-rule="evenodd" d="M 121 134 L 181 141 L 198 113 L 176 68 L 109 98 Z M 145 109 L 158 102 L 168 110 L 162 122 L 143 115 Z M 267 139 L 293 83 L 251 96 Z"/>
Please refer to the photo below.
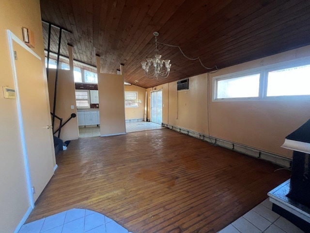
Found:
<path fill-rule="evenodd" d="M 155 35 L 155 56 L 154 58 L 147 58 L 146 62 L 141 62 L 141 65 L 145 76 L 147 76 L 148 78 L 167 78 L 171 67 L 170 60 L 162 60 L 161 55 L 157 54 L 157 36 L 159 35 L 159 33 L 154 32 L 153 34 Z"/>

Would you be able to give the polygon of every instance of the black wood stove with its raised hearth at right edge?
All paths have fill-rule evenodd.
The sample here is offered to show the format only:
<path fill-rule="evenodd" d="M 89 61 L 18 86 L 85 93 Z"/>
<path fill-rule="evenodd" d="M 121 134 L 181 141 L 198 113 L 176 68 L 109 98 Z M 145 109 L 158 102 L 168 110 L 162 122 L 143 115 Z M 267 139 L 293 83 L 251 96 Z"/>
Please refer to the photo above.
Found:
<path fill-rule="evenodd" d="M 282 147 L 294 151 L 292 175 L 268 193 L 272 210 L 310 232 L 310 120 L 289 134 Z"/>

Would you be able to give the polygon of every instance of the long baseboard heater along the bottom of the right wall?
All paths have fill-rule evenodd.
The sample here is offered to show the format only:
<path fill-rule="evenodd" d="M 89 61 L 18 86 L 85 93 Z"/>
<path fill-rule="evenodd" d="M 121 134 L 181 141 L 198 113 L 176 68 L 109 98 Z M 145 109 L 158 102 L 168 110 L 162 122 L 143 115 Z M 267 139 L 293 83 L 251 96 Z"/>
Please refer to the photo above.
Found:
<path fill-rule="evenodd" d="M 285 168 L 291 168 L 292 159 L 283 157 L 283 156 L 278 155 L 278 154 L 274 154 L 274 153 L 270 153 L 268 151 L 248 147 L 246 145 L 227 141 L 225 139 L 209 136 L 207 134 L 195 132 L 192 130 L 184 129 L 184 128 L 174 126 L 174 125 L 170 125 L 170 124 L 166 124 L 166 123 L 162 123 L 161 125 L 163 127 L 169 128 L 169 129 L 174 130 L 176 132 L 184 133 L 186 135 L 189 135 L 189 136 L 192 136 L 195 138 L 199 138 L 203 141 L 206 141 L 206 142 L 209 142 L 212 144 L 216 144 L 217 146 L 220 146 L 220 147 L 224 147 L 224 148 L 227 148 L 230 150 L 235 150 L 235 151 L 238 151 L 242 154 L 246 154 L 246 155 L 258 158 L 258 159 L 263 159 L 263 160 L 269 161 L 273 164 L 277 164 L 277 165 L 285 167 Z"/>

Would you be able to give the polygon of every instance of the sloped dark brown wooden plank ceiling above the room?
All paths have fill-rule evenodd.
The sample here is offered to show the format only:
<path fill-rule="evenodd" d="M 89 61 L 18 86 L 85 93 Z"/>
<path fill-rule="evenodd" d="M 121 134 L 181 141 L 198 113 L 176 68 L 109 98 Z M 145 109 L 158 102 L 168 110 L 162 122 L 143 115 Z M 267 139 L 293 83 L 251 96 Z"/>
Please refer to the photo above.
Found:
<path fill-rule="evenodd" d="M 178 45 L 188 57 L 200 57 L 219 69 L 310 44 L 309 0 L 40 0 L 42 19 L 66 28 L 61 54 L 116 73 L 124 64 L 128 83 L 153 87 L 206 73 L 199 61 L 178 48 L 159 46 L 171 60 L 166 79 L 148 79 L 140 62 L 155 54 L 158 41 Z M 48 25 L 43 23 L 47 49 Z M 58 29 L 52 28 L 51 51 L 57 52 Z"/>

